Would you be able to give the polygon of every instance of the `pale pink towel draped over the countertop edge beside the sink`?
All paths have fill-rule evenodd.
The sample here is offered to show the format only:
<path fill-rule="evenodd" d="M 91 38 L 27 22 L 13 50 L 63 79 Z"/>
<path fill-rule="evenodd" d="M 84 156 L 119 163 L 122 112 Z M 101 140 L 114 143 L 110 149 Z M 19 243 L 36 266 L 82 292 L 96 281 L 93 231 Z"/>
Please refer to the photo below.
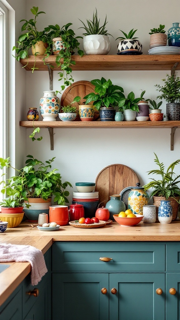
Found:
<path fill-rule="evenodd" d="M 0 244 L 0 262 L 24 262 L 31 264 L 31 284 L 36 285 L 47 272 L 41 250 L 31 245 Z"/>

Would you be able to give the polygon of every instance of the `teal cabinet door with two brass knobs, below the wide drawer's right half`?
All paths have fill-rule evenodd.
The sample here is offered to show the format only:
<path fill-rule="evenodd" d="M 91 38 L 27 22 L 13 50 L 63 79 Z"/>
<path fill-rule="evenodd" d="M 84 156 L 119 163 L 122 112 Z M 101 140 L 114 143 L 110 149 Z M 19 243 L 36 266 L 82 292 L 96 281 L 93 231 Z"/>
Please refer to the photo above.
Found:
<path fill-rule="evenodd" d="M 112 294 L 111 289 L 117 293 Z M 163 293 L 158 295 L 156 289 Z M 165 275 L 110 274 L 110 320 L 164 320 Z"/>

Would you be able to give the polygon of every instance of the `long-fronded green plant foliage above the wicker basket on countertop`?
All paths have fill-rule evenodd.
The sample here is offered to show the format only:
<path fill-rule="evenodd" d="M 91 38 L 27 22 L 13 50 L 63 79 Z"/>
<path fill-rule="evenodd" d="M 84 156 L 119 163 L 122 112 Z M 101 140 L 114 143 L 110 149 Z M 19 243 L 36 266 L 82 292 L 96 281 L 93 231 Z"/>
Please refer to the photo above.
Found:
<path fill-rule="evenodd" d="M 169 197 L 180 196 L 180 189 L 177 186 L 177 184 L 180 182 L 180 180 L 178 180 L 180 175 L 176 175 L 174 172 L 174 168 L 177 164 L 179 164 L 180 159 L 170 164 L 167 171 L 165 172 L 164 164 L 162 162 L 160 163 L 155 153 L 154 155 L 154 162 L 158 165 L 159 169 L 148 171 L 148 175 L 160 175 L 160 180 L 150 178 L 152 181 L 143 186 L 144 190 L 154 188 L 154 190 L 151 192 L 151 197 L 162 196 L 168 199 Z"/>

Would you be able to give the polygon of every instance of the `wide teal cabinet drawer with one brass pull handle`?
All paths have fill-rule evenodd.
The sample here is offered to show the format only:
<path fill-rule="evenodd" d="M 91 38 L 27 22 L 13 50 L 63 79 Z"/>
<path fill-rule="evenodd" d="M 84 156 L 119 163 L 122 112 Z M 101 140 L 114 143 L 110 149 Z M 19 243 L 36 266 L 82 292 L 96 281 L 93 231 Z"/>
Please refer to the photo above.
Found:
<path fill-rule="evenodd" d="M 109 262 L 100 257 L 112 258 Z M 165 271 L 165 244 L 56 242 L 52 271 Z"/>

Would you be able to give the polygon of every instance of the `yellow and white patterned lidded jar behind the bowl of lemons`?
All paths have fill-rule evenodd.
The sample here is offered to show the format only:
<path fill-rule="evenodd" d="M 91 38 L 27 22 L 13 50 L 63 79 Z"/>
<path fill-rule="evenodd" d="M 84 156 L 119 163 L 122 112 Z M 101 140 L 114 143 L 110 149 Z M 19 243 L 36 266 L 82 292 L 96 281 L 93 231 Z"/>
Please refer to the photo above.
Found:
<path fill-rule="evenodd" d="M 136 183 L 137 187 L 132 187 L 128 196 L 128 209 L 134 214 L 143 215 L 143 205 L 149 204 L 149 196 L 140 183 Z"/>

